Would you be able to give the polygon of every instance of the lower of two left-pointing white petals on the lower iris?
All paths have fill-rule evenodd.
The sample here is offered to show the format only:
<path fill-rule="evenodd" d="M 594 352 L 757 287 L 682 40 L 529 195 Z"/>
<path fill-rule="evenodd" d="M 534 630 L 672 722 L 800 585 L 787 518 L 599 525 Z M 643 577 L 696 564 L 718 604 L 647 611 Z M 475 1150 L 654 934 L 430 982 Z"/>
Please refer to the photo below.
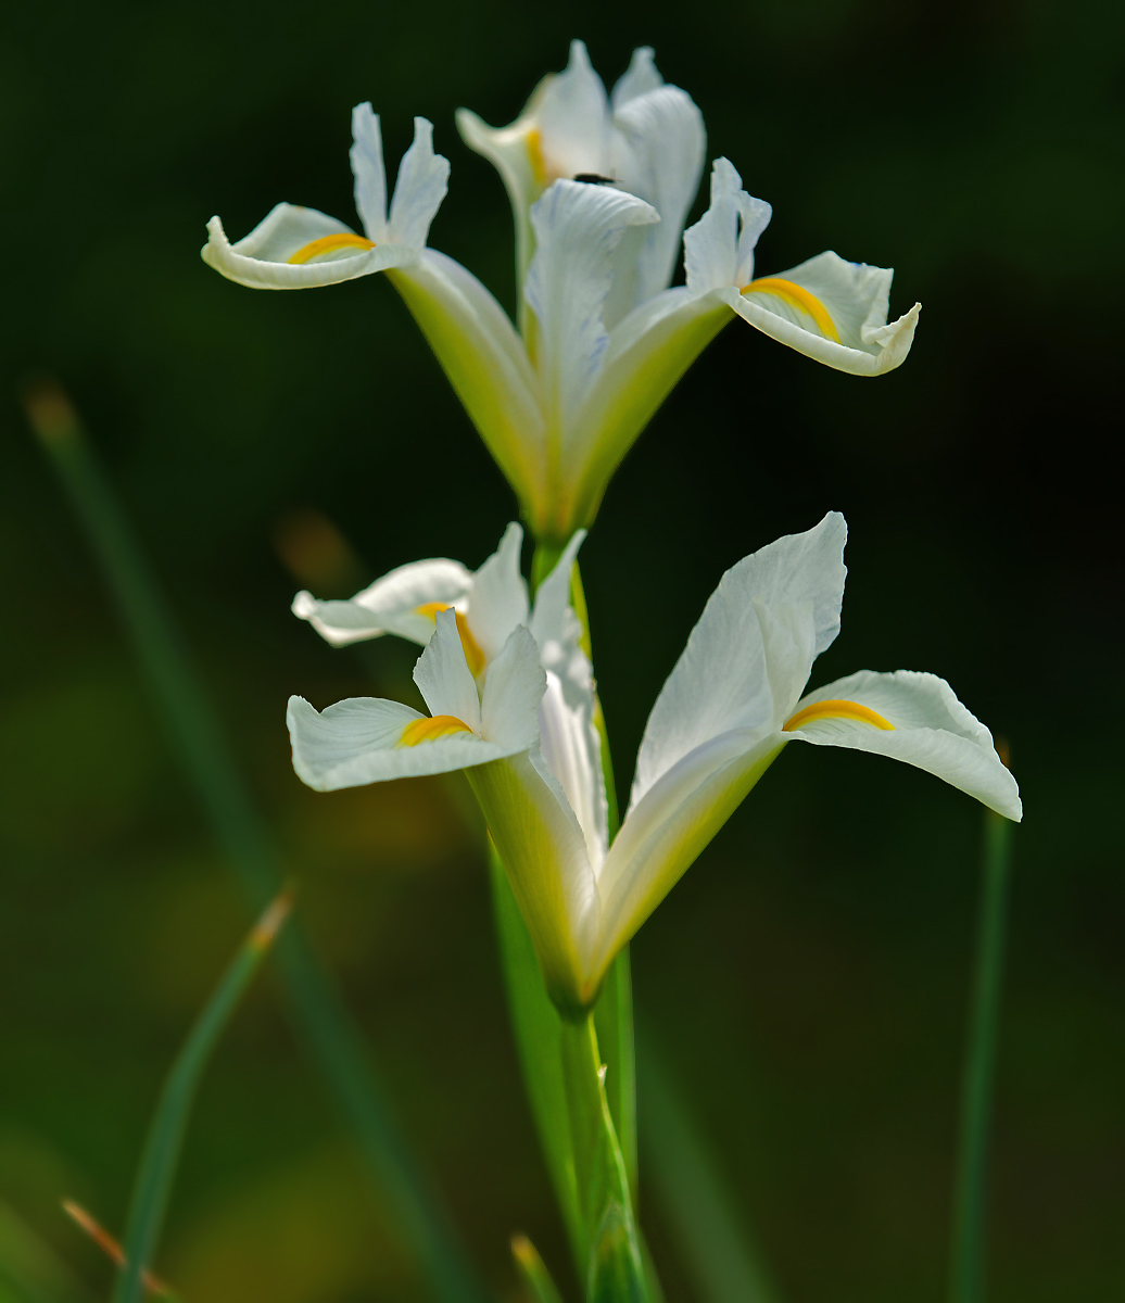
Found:
<path fill-rule="evenodd" d="M 468 732 L 400 745 L 403 730 L 416 719 L 425 715 L 378 697 L 351 697 L 325 711 L 314 710 L 304 697 L 289 697 L 293 769 L 309 787 L 334 792 L 392 778 L 447 774 L 506 754 Z"/>

